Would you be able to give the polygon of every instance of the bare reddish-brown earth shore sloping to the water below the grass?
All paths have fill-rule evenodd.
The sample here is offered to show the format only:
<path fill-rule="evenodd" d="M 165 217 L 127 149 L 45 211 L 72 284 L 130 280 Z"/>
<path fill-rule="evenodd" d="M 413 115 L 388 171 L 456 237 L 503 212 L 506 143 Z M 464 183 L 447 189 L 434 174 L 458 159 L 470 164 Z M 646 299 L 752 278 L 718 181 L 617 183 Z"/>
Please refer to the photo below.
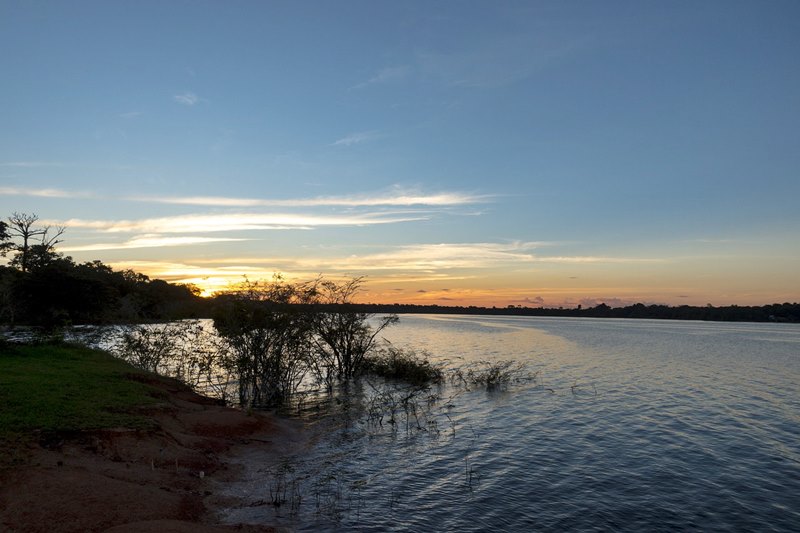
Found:
<path fill-rule="evenodd" d="M 0 531 L 206 533 L 236 501 L 214 493 L 243 473 L 226 457 L 257 446 L 275 456 L 306 444 L 299 424 L 218 405 L 176 385 L 147 415 L 154 431 L 124 428 L 46 439 L 22 466 L 0 470 Z M 202 474 L 201 474 L 202 472 Z"/>

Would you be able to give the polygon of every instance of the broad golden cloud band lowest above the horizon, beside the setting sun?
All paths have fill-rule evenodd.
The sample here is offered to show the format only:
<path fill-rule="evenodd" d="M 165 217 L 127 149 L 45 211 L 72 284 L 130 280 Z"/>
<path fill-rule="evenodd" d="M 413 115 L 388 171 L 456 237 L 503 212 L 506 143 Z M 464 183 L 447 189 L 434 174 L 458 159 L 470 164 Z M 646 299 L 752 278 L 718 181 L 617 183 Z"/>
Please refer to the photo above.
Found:
<path fill-rule="evenodd" d="M 435 284 L 426 287 L 425 292 L 410 292 L 415 298 L 435 301 L 453 298 L 462 302 L 495 305 L 498 302 L 542 305 L 560 305 L 560 293 L 572 294 L 571 288 L 537 288 L 531 295 L 528 288 L 441 288 L 445 284 L 472 283 L 485 280 L 486 272 L 503 271 L 508 268 L 527 268 L 542 261 L 576 262 L 641 262 L 641 259 L 614 257 L 539 257 L 537 250 L 552 245 L 549 242 L 508 242 L 508 243 L 442 243 L 415 244 L 387 247 L 381 251 L 363 254 L 333 254 L 331 250 L 318 250 L 313 256 L 273 256 L 273 257 L 232 257 L 186 259 L 182 263 L 129 262 L 124 268 L 144 272 L 148 275 L 180 283 L 195 283 L 210 294 L 223 290 L 232 282 L 240 281 L 247 275 L 251 279 L 268 279 L 280 272 L 287 279 L 310 279 L 320 272 L 327 276 L 352 276 L 368 274 L 370 285 L 391 287 L 380 289 L 396 295 L 397 284 L 425 283 Z M 658 259 L 646 260 L 658 262 Z M 119 268 L 122 265 L 114 265 Z M 441 284 L 441 285 L 440 285 Z M 439 288 L 436 288 L 436 287 Z M 415 287 L 418 288 L 419 286 Z M 381 301 L 386 301 L 388 293 L 373 292 Z M 581 289 L 583 296 L 605 295 L 612 292 L 609 287 Z M 619 291 L 617 291 L 619 292 Z M 622 293 L 620 293 L 622 295 Z M 367 295 L 368 296 L 368 295 Z M 395 298 L 396 296 L 391 296 Z M 396 300 L 395 300 L 396 301 Z M 577 305 L 576 302 L 574 302 Z"/>

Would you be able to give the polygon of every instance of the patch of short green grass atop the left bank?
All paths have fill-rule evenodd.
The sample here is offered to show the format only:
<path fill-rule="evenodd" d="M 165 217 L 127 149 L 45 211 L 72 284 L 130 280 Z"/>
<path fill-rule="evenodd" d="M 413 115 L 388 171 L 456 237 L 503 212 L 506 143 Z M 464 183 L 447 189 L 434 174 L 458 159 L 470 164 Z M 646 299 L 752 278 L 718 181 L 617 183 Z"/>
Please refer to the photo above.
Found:
<path fill-rule="evenodd" d="M 0 440 L 113 427 L 149 429 L 137 408 L 160 379 L 108 353 L 71 345 L 0 345 Z"/>

